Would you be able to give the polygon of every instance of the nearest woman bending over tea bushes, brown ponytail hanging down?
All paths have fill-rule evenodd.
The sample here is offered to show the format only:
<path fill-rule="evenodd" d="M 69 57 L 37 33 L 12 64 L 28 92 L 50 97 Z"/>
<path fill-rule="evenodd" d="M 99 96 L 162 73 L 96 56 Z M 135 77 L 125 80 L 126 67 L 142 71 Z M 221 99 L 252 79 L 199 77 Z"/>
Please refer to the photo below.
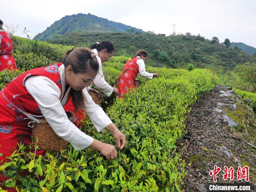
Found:
<path fill-rule="evenodd" d="M 104 129 L 112 132 L 117 147 L 124 148 L 125 136 L 85 89 L 98 69 L 95 54 L 90 49 L 78 48 L 68 50 L 63 63 L 32 69 L 7 84 L 0 91 L 0 153 L 3 153 L 0 162 L 8 161 L 7 157 L 17 148 L 17 143 L 31 143 L 31 128 L 28 125 L 31 119 L 40 116 L 44 116 L 54 132 L 71 143 L 75 150 L 89 147 L 99 150 L 107 159 L 116 158 L 114 146 L 80 131 L 68 120 L 63 109 L 71 97 L 75 109 L 84 110 L 98 132 Z M 2 174 L 0 183 L 5 180 Z"/>

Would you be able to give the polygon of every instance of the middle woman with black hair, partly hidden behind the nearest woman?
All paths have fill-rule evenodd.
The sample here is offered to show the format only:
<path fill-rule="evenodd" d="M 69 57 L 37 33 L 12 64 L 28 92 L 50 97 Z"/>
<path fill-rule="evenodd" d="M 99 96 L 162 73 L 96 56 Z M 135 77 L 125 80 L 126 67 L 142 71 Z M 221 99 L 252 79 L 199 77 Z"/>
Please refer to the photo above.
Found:
<path fill-rule="evenodd" d="M 96 42 L 95 44 L 91 45 L 92 52 L 96 54 L 96 58 L 99 63 L 99 71 L 96 75 L 95 79 L 93 79 L 93 82 L 91 84 L 95 84 L 95 86 L 105 93 L 108 97 L 110 97 L 111 94 L 118 95 L 118 90 L 115 87 L 112 87 L 106 82 L 103 71 L 102 71 L 102 63 L 105 61 L 108 61 L 110 57 L 113 56 L 114 53 L 114 46 L 109 41 L 102 41 L 102 42 Z M 87 87 L 87 91 L 92 91 L 94 93 L 98 93 L 95 89 L 92 89 L 91 87 Z M 72 103 L 72 100 L 69 99 L 67 104 L 64 106 L 65 110 L 71 111 L 75 114 L 75 118 L 73 120 L 73 123 L 75 125 L 79 125 L 79 122 L 84 119 L 84 111 L 78 110 L 77 112 L 74 112 L 74 105 Z"/>

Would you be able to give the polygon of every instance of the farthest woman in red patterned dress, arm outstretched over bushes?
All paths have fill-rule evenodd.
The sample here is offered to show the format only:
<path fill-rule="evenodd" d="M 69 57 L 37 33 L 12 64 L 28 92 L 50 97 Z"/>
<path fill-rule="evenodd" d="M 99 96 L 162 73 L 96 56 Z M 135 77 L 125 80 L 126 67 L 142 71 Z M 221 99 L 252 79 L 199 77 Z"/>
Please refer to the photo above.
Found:
<path fill-rule="evenodd" d="M 124 69 L 119 75 L 117 82 L 119 98 L 123 98 L 123 95 L 127 93 L 127 91 L 135 88 L 135 79 L 138 74 L 148 79 L 158 76 L 157 73 L 151 74 L 146 72 L 144 62 L 146 61 L 147 57 L 148 52 L 141 49 L 124 65 Z"/>

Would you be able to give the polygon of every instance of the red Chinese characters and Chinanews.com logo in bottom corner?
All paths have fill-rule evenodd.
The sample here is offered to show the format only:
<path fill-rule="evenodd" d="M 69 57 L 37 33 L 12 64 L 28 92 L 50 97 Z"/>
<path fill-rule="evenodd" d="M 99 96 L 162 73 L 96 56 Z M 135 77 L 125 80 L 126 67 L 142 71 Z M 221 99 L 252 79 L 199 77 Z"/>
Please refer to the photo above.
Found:
<path fill-rule="evenodd" d="M 214 169 L 210 170 L 209 175 L 213 178 L 214 183 L 208 184 L 208 190 L 209 191 L 251 191 L 251 186 L 248 184 L 238 184 L 237 181 L 245 180 L 246 182 L 249 182 L 249 167 L 244 166 L 240 167 L 238 166 L 238 169 L 236 171 L 236 182 L 233 184 L 230 183 L 218 183 L 217 184 L 217 175 L 221 172 L 221 168 L 217 165 L 214 165 Z M 223 180 L 230 180 L 233 181 L 234 176 L 234 168 L 227 166 L 224 166 L 222 178 Z"/>

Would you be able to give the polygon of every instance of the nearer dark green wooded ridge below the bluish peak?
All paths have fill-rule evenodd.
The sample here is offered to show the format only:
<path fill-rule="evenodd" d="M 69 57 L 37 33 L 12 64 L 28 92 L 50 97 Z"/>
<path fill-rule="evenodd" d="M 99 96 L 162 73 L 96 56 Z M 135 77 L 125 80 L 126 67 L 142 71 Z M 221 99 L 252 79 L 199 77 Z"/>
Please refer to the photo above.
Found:
<path fill-rule="evenodd" d="M 164 63 L 165 66 L 183 68 L 188 63 L 193 63 L 198 68 L 233 69 L 238 64 L 253 62 L 256 57 L 250 56 L 242 50 L 228 49 L 221 44 L 200 36 L 171 35 L 162 36 L 151 33 L 68 33 L 59 35 L 49 40 L 51 43 L 65 45 L 91 45 L 96 41 L 111 41 L 116 54 L 131 56 L 138 49 L 146 49 L 150 53 L 150 59 L 156 64 Z"/>

